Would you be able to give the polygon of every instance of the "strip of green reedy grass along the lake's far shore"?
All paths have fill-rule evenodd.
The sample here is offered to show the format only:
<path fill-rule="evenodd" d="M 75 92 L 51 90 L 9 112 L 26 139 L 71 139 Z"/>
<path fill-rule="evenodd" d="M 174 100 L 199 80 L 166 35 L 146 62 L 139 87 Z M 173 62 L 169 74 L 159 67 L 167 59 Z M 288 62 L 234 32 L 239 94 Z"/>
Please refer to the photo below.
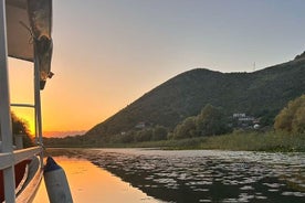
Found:
<path fill-rule="evenodd" d="M 305 135 L 285 132 L 244 132 L 236 131 L 223 136 L 201 137 L 180 140 L 149 141 L 113 147 L 137 147 L 164 149 L 219 149 L 243 151 L 305 151 Z"/>

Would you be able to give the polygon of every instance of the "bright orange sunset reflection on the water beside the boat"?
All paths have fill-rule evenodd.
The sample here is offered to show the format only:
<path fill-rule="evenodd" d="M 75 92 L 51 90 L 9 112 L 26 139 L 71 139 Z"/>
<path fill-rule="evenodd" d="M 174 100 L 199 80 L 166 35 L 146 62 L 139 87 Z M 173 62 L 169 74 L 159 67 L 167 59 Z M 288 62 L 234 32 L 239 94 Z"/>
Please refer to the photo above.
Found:
<path fill-rule="evenodd" d="M 61 154 L 63 154 L 61 152 Z M 108 171 L 102 170 L 82 158 L 55 157 L 56 162 L 65 170 L 73 201 L 87 202 L 159 202 L 140 190 L 123 182 Z M 44 182 L 42 182 L 34 203 L 49 202 Z"/>

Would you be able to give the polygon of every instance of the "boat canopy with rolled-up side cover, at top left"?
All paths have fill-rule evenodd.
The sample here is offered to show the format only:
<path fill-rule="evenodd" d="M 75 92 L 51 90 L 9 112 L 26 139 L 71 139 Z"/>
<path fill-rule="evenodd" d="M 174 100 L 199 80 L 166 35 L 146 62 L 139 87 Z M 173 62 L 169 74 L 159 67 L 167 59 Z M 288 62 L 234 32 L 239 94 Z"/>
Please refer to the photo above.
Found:
<path fill-rule="evenodd" d="M 40 86 L 51 78 L 52 0 L 6 0 L 8 55 L 38 63 Z"/>

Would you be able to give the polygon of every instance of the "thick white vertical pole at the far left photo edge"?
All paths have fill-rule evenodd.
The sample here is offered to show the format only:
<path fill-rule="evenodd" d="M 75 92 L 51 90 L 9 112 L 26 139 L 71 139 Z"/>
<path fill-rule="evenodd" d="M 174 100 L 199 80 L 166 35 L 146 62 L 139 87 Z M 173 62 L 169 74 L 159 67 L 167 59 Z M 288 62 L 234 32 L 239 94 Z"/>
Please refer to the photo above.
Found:
<path fill-rule="evenodd" d="M 11 107 L 9 94 L 9 74 L 8 74 L 8 44 L 7 44 L 7 19 L 6 0 L 0 1 L 0 122 L 2 151 L 12 154 L 12 128 L 11 128 Z M 14 202 L 14 167 L 13 154 L 11 167 L 3 170 L 4 177 L 4 196 L 6 202 Z"/>

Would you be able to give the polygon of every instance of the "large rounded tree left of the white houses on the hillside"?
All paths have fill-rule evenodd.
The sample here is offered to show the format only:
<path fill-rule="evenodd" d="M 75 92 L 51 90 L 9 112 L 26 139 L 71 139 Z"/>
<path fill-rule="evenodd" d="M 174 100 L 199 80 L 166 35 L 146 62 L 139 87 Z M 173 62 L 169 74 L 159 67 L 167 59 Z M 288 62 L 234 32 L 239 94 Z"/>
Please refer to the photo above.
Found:
<path fill-rule="evenodd" d="M 196 125 L 199 136 L 213 136 L 230 131 L 221 108 L 213 107 L 212 105 L 203 107 L 201 114 L 197 117 Z"/>

